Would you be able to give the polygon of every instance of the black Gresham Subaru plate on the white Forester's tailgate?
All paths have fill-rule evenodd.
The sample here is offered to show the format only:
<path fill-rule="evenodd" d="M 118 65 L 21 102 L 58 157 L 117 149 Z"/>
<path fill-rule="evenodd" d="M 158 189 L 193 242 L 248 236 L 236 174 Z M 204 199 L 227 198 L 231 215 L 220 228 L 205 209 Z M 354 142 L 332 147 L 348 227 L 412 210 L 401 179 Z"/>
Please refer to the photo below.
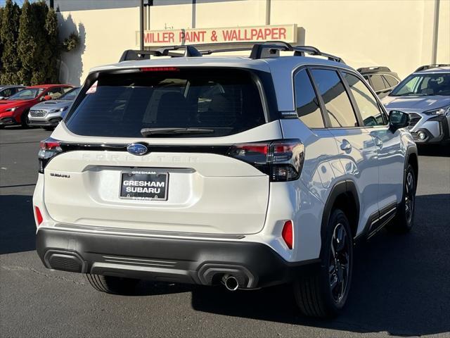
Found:
<path fill-rule="evenodd" d="M 167 201 L 169 173 L 151 170 L 122 171 L 121 199 Z"/>

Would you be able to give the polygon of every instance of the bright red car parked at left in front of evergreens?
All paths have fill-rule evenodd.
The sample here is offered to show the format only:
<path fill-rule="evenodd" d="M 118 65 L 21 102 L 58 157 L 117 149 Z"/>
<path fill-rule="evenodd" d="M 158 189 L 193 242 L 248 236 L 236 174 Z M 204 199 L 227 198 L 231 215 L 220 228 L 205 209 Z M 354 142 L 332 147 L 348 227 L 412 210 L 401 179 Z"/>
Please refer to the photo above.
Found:
<path fill-rule="evenodd" d="M 4 125 L 28 126 L 28 111 L 41 101 L 58 99 L 70 90 L 70 84 L 41 84 L 22 89 L 7 100 L 0 100 L 0 127 Z"/>

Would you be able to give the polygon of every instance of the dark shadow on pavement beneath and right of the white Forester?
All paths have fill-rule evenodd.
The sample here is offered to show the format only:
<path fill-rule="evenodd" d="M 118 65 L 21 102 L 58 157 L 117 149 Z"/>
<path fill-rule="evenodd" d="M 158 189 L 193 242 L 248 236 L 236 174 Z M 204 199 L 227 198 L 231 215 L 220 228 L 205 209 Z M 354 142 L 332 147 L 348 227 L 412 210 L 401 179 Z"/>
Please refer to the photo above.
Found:
<path fill-rule="evenodd" d="M 350 332 L 420 336 L 450 332 L 450 194 L 417 197 L 415 227 L 383 231 L 355 250 L 345 311 L 335 320 L 305 318 L 290 286 L 226 292 L 194 287 L 197 311 Z"/>

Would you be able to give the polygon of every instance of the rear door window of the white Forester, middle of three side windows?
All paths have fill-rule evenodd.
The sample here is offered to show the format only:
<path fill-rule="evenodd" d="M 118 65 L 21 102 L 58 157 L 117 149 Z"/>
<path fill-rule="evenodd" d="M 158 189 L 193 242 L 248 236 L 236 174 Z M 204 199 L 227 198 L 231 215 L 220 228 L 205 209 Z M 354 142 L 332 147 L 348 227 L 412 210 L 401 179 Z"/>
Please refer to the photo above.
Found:
<path fill-rule="evenodd" d="M 326 69 L 314 69 L 311 73 L 325 102 L 331 127 L 357 127 L 352 104 L 338 73 Z"/>

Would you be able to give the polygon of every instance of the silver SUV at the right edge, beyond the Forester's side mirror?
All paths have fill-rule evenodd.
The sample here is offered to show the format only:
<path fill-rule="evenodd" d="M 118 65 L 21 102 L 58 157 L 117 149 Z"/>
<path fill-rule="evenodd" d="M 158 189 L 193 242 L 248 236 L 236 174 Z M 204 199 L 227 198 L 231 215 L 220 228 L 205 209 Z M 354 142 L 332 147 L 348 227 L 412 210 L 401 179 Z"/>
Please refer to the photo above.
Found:
<path fill-rule="evenodd" d="M 450 142 L 450 65 L 423 65 L 381 101 L 388 112 L 409 114 L 417 144 Z"/>

